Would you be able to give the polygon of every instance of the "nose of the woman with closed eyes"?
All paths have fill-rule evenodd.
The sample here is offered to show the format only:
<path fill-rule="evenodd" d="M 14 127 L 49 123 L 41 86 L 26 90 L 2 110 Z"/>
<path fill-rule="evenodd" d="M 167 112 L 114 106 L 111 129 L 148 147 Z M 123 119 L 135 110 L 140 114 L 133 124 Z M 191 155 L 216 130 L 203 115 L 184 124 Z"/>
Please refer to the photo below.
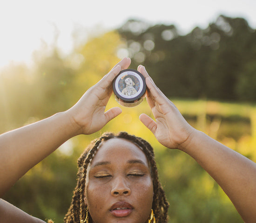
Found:
<path fill-rule="evenodd" d="M 113 181 L 113 186 L 111 190 L 112 196 L 129 196 L 131 194 L 131 189 L 128 186 L 128 182 L 124 177 L 116 177 Z"/>

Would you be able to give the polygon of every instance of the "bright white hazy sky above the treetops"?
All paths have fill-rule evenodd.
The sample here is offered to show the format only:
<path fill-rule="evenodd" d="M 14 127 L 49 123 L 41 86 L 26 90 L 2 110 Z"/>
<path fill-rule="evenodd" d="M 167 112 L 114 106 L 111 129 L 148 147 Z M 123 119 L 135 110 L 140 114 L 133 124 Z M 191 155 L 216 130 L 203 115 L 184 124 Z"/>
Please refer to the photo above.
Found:
<path fill-rule="evenodd" d="M 186 34 L 195 26 L 206 28 L 220 14 L 242 17 L 256 28 L 255 9 L 256 0 L 2 0 L 0 68 L 29 63 L 35 50 L 54 43 L 56 33 L 57 46 L 67 54 L 75 31 L 86 37 L 99 27 L 115 29 L 133 18 L 175 25 Z"/>

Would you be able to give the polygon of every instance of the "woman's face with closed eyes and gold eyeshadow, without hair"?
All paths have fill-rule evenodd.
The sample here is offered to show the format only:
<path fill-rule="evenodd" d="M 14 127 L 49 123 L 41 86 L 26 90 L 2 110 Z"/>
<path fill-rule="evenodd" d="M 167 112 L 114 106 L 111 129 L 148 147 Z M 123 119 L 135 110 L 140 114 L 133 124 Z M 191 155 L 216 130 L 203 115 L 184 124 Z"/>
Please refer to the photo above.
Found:
<path fill-rule="evenodd" d="M 85 203 L 94 223 L 144 223 L 153 202 L 148 160 L 134 143 L 112 138 L 88 166 Z"/>

